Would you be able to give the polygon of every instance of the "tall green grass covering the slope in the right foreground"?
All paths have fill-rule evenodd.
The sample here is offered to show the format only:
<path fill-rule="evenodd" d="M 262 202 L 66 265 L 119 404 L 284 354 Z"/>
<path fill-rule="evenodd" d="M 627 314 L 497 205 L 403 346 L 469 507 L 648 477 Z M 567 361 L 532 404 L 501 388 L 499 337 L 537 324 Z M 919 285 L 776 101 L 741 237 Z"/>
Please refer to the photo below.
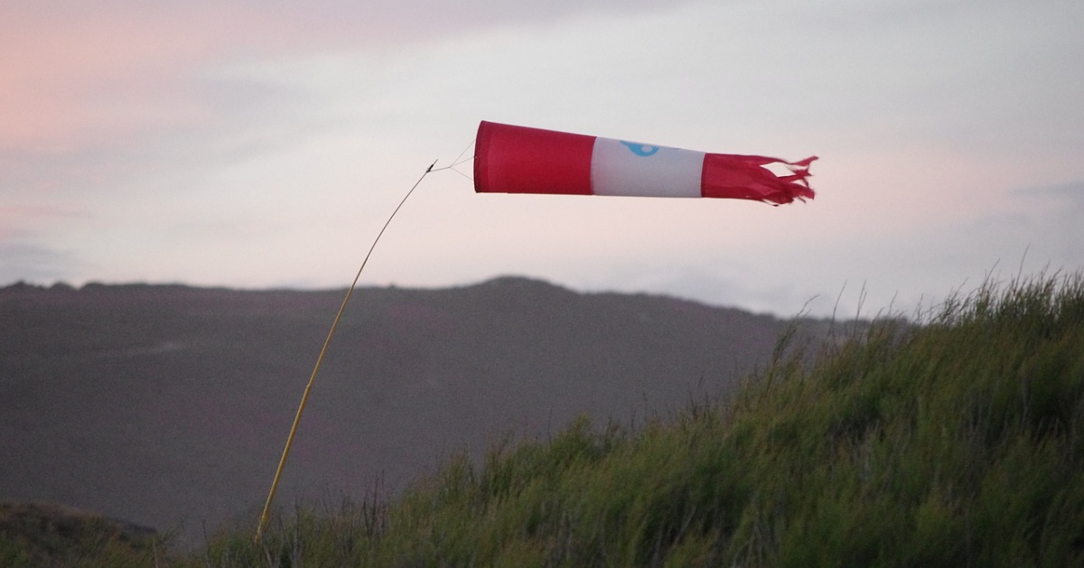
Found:
<path fill-rule="evenodd" d="M 1080 275 L 985 284 L 848 339 L 780 349 L 669 419 L 581 419 L 177 564 L 1084 566 Z"/>

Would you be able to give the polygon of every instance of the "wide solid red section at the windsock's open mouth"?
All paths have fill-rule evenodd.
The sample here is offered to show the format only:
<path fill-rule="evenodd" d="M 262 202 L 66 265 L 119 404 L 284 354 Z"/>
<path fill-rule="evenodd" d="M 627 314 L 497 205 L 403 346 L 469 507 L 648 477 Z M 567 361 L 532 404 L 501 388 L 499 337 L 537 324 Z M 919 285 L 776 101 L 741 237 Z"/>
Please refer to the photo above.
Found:
<path fill-rule="evenodd" d="M 595 137 L 487 122 L 475 141 L 475 191 L 591 195 Z"/>

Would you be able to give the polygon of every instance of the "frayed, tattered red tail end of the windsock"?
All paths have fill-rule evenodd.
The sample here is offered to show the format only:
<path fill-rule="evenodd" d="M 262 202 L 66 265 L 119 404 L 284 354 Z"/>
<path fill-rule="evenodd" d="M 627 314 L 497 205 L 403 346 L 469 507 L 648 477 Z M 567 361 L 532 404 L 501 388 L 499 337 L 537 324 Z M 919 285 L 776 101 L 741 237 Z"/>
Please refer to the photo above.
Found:
<path fill-rule="evenodd" d="M 795 199 L 812 199 L 813 190 L 809 178 L 810 163 L 816 156 L 801 162 L 786 162 L 765 156 L 740 156 L 734 154 L 706 154 L 704 172 L 700 175 L 700 194 L 705 197 L 730 197 L 756 199 L 772 204 L 785 204 Z M 782 164 L 790 170 L 790 176 L 776 176 L 767 168 Z"/>

